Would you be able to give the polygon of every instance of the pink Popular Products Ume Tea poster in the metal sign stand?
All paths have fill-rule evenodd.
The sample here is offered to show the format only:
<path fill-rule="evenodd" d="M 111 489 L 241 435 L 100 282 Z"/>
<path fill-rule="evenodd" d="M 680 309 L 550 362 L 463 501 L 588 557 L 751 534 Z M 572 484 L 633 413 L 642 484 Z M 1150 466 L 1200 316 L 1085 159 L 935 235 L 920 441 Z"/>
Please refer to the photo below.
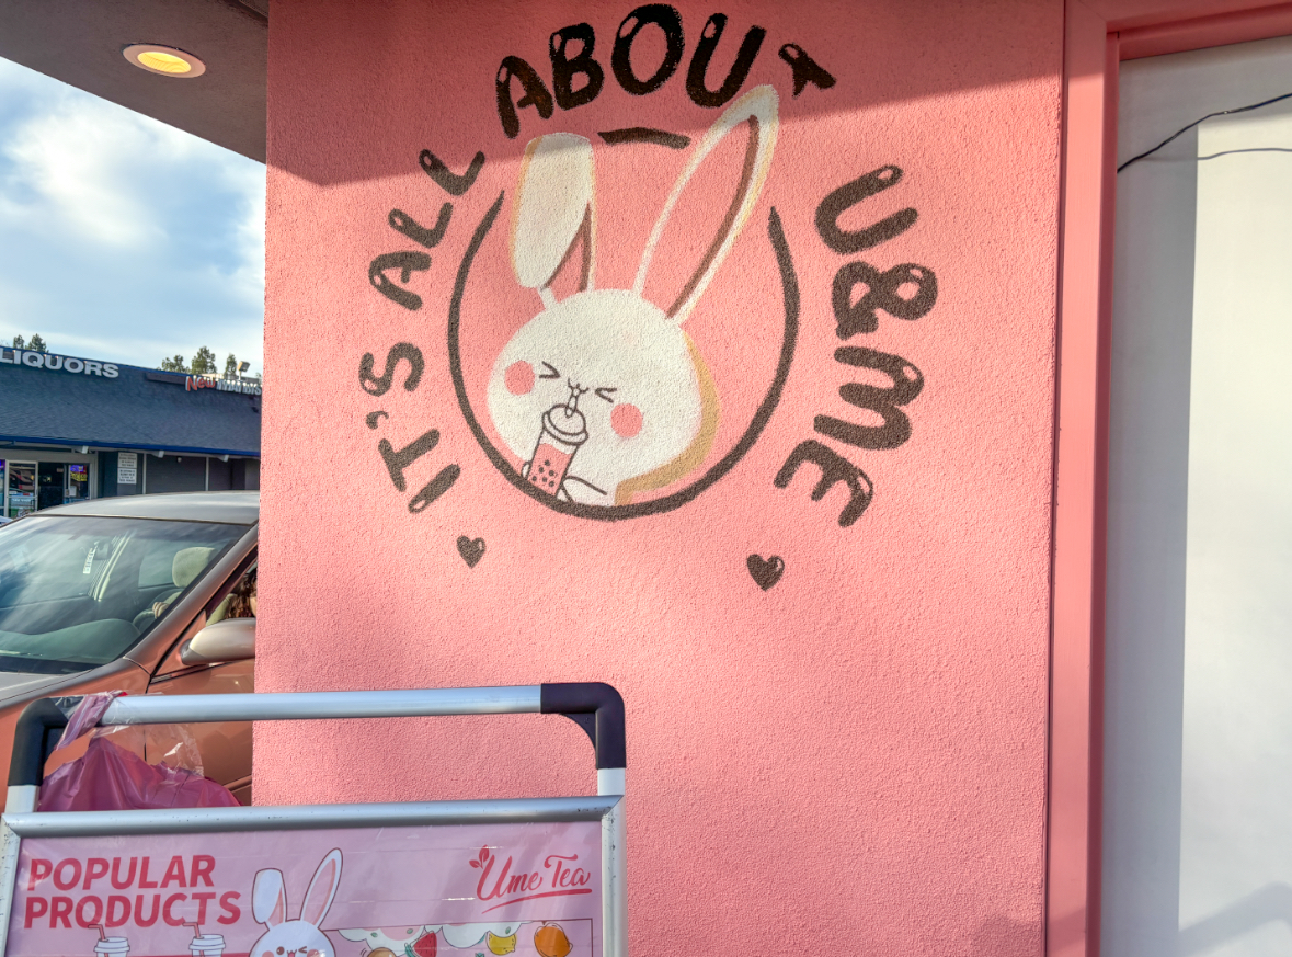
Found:
<path fill-rule="evenodd" d="M 599 957 L 601 823 L 25 838 L 6 957 Z"/>

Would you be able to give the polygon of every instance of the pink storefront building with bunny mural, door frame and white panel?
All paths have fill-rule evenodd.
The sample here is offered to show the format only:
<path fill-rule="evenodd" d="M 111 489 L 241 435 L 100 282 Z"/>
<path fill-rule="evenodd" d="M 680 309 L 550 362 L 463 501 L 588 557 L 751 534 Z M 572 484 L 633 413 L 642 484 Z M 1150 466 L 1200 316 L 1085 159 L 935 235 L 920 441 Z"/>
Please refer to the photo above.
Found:
<path fill-rule="evenodd" d="M 200 9 L 45 69 L 267 163 L 257 691 L 614 684 L 634 954 L 1287 949 L 1292 4 Z"/>

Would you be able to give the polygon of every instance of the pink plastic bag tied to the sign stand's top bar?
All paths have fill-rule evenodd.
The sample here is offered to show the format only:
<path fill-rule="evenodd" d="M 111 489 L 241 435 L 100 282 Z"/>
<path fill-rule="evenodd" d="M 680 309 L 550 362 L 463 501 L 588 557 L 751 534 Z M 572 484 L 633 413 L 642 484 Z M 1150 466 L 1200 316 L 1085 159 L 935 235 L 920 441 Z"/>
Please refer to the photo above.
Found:
<path fill-rule="evenodd" d="M 87 694 L 67 722 L 59 747 L 98 723 L 116 697 Z M 143 811 L 171 807 L 236 807 L 227 788 L 186 768 L 149 764 L 107 737 L 90 738 L 85 754 L 57 768 L 40 788 L 37 811 Z"/>

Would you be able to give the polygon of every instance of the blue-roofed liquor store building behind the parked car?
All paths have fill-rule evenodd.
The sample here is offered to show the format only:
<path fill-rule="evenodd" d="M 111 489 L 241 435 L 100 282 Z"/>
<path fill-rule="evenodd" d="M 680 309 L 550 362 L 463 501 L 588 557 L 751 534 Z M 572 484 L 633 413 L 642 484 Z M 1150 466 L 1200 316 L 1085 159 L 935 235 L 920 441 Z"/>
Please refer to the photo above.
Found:
<path fill-rule="evenodd" d="M 258 380 L 0 348 L 0 513 L 260 488 Z"/>

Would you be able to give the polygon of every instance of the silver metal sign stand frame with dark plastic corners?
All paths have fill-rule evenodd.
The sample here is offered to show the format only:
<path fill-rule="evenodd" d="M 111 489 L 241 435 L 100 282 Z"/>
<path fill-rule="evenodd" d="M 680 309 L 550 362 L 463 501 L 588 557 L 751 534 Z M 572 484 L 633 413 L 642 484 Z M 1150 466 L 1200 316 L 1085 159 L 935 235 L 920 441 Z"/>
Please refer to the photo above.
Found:
<path fill-rule="evenodd" d="M 596 749 L 596 797 L 37 813 L 45 759 L 67 718 L 53 701 L 34 701 L 14 732 L 9 794 L 0 817 L 0 957 L 8 952 L 18 851 L 26 837 L 597 820 L 601 821 L 602 957 L 628 957 L 624 702 L 609 684 L 121 697 L 103 713 L 99 726 L 484 714 L 563 714 L 575 720 Z"/>

